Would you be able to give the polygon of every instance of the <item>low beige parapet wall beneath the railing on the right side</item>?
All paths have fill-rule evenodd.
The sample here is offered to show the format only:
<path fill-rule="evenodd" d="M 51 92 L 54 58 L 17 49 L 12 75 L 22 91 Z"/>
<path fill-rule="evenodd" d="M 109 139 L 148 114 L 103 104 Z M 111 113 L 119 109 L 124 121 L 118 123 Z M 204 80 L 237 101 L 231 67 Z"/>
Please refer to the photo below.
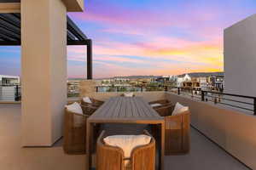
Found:
<path fill-rule="evenodd" d="M 194 127 L 248 167 L 256 169 L 256 116 L 177 94 L 166 93 L 166 99 L 188 105 Z"/>

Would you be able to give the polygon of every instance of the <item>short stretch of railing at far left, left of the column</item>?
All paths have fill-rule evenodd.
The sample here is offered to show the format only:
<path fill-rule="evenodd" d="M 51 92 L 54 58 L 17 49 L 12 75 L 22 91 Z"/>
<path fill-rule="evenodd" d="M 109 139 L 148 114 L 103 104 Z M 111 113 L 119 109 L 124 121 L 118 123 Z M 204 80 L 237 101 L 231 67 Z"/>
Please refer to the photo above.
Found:
<path fill-rule="evenodd" d="M 20 85 L 0 85 L 0 101 L 20 101 Z"/>

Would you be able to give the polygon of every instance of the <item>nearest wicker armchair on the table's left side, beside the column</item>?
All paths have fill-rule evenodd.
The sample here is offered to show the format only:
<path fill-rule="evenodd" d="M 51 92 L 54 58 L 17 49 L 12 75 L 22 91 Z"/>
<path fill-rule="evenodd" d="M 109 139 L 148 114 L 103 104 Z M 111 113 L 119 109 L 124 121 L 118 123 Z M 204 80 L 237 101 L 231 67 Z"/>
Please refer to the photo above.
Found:
<path fill-rule="evenodd" d="M 76 116 L 76 117 L 75 117 Z M 86 153 L 86 121 L 89 116 L 80 115 L 65 109 L 63 150 L 67 154 Z M 79 119 L 79 124 L 74 119 Z"/>

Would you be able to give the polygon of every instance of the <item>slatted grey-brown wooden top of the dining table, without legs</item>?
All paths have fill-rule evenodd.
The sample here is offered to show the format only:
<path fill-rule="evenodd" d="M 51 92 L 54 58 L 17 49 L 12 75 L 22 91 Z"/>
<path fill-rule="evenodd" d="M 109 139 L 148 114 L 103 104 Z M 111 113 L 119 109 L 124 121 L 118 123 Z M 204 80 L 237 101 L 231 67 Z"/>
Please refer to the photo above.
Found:
<path fill-rule="evenodd" d="M 142 97 L 113 97 L 88 118 L 89 122 L 162 123 L 164 117 Z"/>

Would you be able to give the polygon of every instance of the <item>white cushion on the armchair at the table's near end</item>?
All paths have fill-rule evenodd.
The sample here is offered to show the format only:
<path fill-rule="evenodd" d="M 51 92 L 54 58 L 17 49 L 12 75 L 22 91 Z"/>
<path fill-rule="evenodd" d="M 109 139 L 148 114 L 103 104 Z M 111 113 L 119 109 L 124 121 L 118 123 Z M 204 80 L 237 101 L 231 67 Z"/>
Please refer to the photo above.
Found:
<path fill-rule="evenodd" d="M 131 157 L 131 151 L 137 146 L 149 144 L 151 137 L 148 135 L 113 135 L 103 139 L 108 145 L 119 147 L 124 151 L 125 158 Z M 125 167 L 129 167 L 130 161 L 125 161 Z"/>

